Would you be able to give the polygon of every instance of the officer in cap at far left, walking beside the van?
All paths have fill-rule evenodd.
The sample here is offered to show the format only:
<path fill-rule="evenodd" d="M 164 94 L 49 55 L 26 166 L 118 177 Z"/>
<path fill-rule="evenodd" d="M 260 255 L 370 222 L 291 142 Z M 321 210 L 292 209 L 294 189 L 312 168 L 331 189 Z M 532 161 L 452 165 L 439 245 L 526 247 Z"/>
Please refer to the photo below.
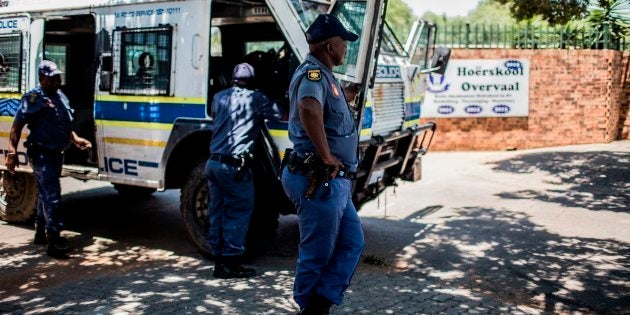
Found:
<path fill-rule="evenodd" d="M 60 236 L 64 220 L 59 212 L 61 201 L 61 167 L 63 152 L 74 143 L 86 150 L 92 144 L 72 131 L 72 110 L 68 98 L 59 90 L 62 73 L 48 60 L 38 66 L 39 86 L 22 96 L 9 135 L 6 167 L 14 173 L 18 165 L 17 146 L 22 128 L 30 133 L 24 146 L 37 180 L 37 217 L 35 244 L 47 244 L 46 253 L 55 258 L 66 258 L 69 251 Z"/>

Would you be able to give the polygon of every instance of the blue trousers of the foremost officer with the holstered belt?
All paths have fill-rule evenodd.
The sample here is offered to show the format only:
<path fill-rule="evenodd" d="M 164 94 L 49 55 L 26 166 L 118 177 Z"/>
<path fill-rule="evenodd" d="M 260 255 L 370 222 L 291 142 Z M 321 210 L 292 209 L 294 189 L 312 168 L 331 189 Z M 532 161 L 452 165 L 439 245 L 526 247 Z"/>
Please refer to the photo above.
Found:
<path fill-rule="evenodd" d="M 352 203 L 352 183 L 336 178 L 323 185 L 314 198 L 304 198 L 308 178 L 301 173 L 282 172 L 282 186 L 295 204 L 300 244 L 293 285 L 293 299 L 304 308 L 313 292 L 336 305 L 357 268 L 365 246 L 363 229 Z"/>

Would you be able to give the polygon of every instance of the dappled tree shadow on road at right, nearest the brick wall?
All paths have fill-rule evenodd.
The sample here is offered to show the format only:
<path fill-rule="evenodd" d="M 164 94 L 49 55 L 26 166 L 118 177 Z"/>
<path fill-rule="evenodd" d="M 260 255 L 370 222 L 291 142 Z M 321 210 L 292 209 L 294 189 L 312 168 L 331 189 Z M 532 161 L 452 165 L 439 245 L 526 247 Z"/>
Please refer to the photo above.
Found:
<path fill-rule="evenodd" d="M 499 194 L 508 199 L 535 198 L 567 207 L 630 212 L 630 155 L 627 152 L 551 152 L 518 156 L 494 163 L 493 170 L 547 172 L 569 188 L 521 190 Z"/>

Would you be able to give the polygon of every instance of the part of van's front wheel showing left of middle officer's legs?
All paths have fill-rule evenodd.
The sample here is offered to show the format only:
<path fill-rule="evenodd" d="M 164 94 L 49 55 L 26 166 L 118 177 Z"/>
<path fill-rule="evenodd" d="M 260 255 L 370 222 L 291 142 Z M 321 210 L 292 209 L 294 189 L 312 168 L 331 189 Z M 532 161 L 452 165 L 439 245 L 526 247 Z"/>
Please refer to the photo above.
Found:
<path fill-rule="evenodd" d="M 211 255 L 209 243 L 210 221 L 208 220 L 208 180 L 205 174 L 206 160 L 197 162 L 181 190 L 180 211 L 188 235 L 205 255 Z"/>

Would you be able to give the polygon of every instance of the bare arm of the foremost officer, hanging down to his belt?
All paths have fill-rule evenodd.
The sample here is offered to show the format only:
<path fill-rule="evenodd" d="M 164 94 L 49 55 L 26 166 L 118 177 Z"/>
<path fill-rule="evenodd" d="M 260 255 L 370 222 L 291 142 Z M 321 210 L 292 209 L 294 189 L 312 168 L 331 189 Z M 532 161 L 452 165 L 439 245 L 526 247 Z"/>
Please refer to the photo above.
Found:
<path fill-rule="evenodd" d="M 339 167 L 339 160 L 330 154 L 330 148 L 326 140 L 322 105 L 316 99 L 306 97 L 298 102 L 298 109 L 304 131 L 306 131 L 306 135 L 315 145 L 315 150 L 317 150 L 317 154 L 319 154 L 324 164 Z"/>

